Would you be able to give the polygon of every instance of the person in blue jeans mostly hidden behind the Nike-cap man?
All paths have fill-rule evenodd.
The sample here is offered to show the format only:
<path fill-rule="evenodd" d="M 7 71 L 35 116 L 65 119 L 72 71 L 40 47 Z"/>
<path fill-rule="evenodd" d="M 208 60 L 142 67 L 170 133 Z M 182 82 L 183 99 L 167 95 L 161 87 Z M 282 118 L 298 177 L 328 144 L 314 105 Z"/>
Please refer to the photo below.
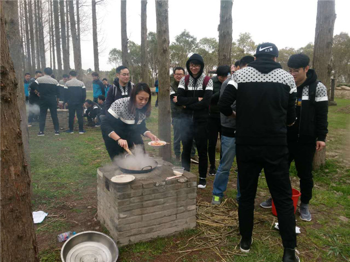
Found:
<path fill-rule="evenodd" d="M 242 57 L 240 60 L 240 67 L 244 68 L 248 63 L 254 61 L 254 57 L 247 55 Z M 237 71 L 235 71 L 237 72 Z M 223 90 L 225 90 L 228 82 L 231 81 L 230 78 L 226 79 L 220 87 L 220 95 L 222 95 Z M 236 111 L 236 103 L 233 102 L 231 105 L 232 111 Z M 223 197 L 223 193 L 226 191 L 229 171 L 232 167 L 233 160 L 236 155 L 236 145 L 235 145 L 235 128 L 236 120 L 233 117 L 225 116 L 220 113 L 220 123 L 221 123 L 221 154 L 219 166 L 216 171 L 214 183 L 212 184 L 212 200 L 211 205 L 220 205 Z M 237 196 L 236 200 L 239 203 L 240 191 L 239 191 L 239 180 L 237 175 Z"/>

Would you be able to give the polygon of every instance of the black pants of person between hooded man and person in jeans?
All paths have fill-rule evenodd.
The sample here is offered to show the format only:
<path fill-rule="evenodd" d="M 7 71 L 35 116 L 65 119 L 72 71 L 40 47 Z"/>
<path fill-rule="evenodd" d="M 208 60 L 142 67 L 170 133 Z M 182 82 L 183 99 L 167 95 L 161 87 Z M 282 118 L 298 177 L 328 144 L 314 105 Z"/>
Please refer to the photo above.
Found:
<path fill-rule="evenodd" d="M 221 122 L 220 118 L 209 117 L 208 118 L 208 157 L 210 166 L 215 167 L 215 151 L 217 136 L 220 134 L 221 137 Z M 221 159 L 221 152 L 220 152 Z"/>

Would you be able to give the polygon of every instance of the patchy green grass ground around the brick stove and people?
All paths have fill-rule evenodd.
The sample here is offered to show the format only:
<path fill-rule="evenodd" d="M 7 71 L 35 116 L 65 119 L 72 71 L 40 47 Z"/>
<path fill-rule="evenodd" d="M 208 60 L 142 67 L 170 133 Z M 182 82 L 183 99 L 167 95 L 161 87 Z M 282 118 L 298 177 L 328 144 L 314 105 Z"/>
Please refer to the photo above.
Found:
<path fill-rule="evenodd" d="M 91 96 L 88 92 L 88 96 Z M 154 98 L 154 97 L 152 97 Z M 154 105 L 155 99 L 152 99 Z M 302 222 L 297 216 L 297 226 L 301 234 L 297 237 L 298 251 L 303 262 L 337 262 L 350 259 L 350 161 L 349 134 L 350 115 L 342 108 L 348 108 L 350 100 L 336 99 L 337 106 L 329 107 L 329 136 L 327 141 L 326 165 L 314 172 L 313 198 L 310 202 L 312 221 Z M 157 134 L 157 109 L 153 107 L 147 127 Z M 29 129 L 30 164 L 32 174 L 33 211 L 43 210 L 49 216 L 35 225 L 39 256 L 42 262 L 60 261 L 60 248 L 56 236 L 66 231 L 108 232 L 96 219 L 96 168 L 109 162 L 99 128 L 87 129 L 83 135 L 61 133 L 59 136 L 45 132 L 37 137 L 38 125 Z M 146 150 L 157 155 L 156 150 L 145 143 Z M 218 162 L 218 154 L 217 154 Z M 231 177 L 225 194 L 235 199 L 236 174 L 231 169 Z M 218 166 L 218 163 L 217 163 Z M 197 166 L 191 171 L 197 173 Z M 298 187 L 295 168 L 290 170 L 293 187 Z M 213 178 L 209 177 L 207 188 L 197 191 L 197 200 L 210 201 Z M 255 201 L 255 211 L 269 217 L 269 221 L 255 229 L 254 243 L 248 256 L 233 256 L 231 261 L 259 262 L 278 261 L 282 247 L 277 231 L 271 230 L 274 220 L 270 210 L 261 209 L 258 204 L 268 196 L 263 178 Z M 257 232 L 259 231 L 259 232 Z M 118 261 L 122 262 L 173 262 L 183 250 L 187 240 L 197 234 L 188 230 L 166 238 L 158 238 L 146 243 L 138 243 L 120 248 Z M 235 249 L 239 236 L 229 239 L 231 249 Z M 191 246 L 187 246 L 191 248 Z M 182 262 L 221 261 L 210 250 L 195 251 L 181 258 Z"/>

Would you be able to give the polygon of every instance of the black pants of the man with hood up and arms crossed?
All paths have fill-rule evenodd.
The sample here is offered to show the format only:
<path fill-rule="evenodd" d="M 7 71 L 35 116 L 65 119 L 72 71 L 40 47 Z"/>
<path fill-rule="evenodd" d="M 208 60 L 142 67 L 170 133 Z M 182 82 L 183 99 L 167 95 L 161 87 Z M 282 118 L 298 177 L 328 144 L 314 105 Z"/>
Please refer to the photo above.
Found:
<path fill-rule="evenodd" d="M 208 138 L 206 132 L 207 122 L 192 122 L 191 119 L 183 118 L 181 120 L 182 133 L 181 133 L 181 142 L 182 142 L 182 154 L 181 154 L 181 163 L 184 170 L 189 171 L 190 168 L 190 157 L 192 149 L 193 138 L 197 146 L 198 152 L 198 173 L 199 177 L 206 178 L 206 171 L 208 168 Z"/>

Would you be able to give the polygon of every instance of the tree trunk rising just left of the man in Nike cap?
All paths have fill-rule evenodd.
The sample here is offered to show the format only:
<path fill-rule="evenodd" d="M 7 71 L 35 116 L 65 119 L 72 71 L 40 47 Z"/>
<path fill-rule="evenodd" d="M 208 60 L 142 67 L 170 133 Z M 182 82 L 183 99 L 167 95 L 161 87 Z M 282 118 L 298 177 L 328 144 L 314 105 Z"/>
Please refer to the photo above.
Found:
<path fill-rule="evenodd" d="M 218 65 L 231 66 L 232 0 L 220 0 Z"/>

